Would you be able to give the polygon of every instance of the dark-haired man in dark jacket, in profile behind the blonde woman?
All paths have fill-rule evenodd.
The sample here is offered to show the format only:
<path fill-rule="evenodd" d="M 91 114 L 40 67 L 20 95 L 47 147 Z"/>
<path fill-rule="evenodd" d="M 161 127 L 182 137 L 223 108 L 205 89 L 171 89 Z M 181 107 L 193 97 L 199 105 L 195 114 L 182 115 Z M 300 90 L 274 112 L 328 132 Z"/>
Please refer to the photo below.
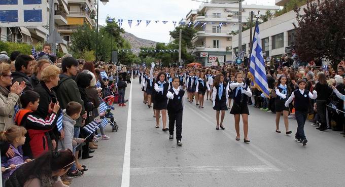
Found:
<path fill-rule="evenodd" d="M 29 76 L 31 76 L 32 61 L 33 59 L 30 56 L 19 55 L 16 58 L 16 62 L 14 63 L 16 71 L 12 73 L 12 84 L 14 84 L 15 82 L 21 83 L 24 81 L 26 85 L 24 91 L 33 90 L 28 78 Z"/>

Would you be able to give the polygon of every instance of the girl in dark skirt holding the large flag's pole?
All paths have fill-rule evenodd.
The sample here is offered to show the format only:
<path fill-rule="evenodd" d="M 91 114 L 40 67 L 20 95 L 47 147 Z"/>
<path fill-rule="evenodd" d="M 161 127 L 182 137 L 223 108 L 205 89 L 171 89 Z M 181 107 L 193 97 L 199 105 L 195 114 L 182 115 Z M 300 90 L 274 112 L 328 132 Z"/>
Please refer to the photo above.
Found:
<path fill-rule="evenodd" d="M 248 98 L 252 97 L 252 92 L 248 85 L 243 83 L 243 74 L 237 72 L 235 74 L 235 79 L 237 83 L 231 83 L 230 89 L 233 90 L 233 98 L 234 103 L 230 110 L 230 114 L 232 114 L 235 118 L 235 129 L 236 129 L 236 140 L 239 141 L 239 120 L 240 115 L 242 116 L 243 121 L 243 131 L 245 134 L 244 142 L 250 142 L 248 139 Z"/>

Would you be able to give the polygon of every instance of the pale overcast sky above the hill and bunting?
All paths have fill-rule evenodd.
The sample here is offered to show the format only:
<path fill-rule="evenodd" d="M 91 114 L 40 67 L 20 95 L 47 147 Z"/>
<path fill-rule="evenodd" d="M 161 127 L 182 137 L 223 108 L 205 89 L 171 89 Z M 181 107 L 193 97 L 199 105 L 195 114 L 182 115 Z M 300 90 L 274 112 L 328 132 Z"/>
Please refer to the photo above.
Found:
<path fill-rule="evenodd" d="M 274 0 L 246 0 L 243 4 L 274 5 Z M 139 38 L 168 43 L 169 31 L 174 30 L 172 21 L 179 22 L 191 9 L 197 9 L 200 2 L 191 0 L 110 0 L 106 6 L 99 4 L 99 24 L 104 25 L 106 18 L 123 19 L 122 28 Z M 128 19 L 133 23 L 129 28 Z M 136 20 L 142 20 L 140 26 Z M 151 23 L 146 26 L 146 20 Z M 156 23 L 155 20 L 160 22 Z M 163 24 L 162 21 L 168 21 Z"/>

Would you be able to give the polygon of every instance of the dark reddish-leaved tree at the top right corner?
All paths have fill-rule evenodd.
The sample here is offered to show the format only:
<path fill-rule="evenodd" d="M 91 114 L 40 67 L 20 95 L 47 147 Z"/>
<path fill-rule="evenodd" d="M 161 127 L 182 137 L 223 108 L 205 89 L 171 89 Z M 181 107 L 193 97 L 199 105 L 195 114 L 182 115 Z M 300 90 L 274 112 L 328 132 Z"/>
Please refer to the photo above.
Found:
<path fill-rule="evenodd" d="M 345 57 L 345 1 L 308 0 L 303 13 L 297 7 L 294 11 L 299 25 L 294 49 L 300 60 L 327 58 L 336 69 Z"/>

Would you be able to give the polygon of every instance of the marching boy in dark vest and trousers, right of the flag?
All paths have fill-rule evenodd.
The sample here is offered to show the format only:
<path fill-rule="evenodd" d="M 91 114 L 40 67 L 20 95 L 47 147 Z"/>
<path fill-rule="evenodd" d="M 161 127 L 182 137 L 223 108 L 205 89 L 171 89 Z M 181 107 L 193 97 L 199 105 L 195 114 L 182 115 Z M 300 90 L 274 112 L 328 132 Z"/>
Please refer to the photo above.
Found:
<path fill-rule="evenodd" d="M 318 93 L 314 90 L 312 94 L 309 90 L 304 89 L 306 85 L 306 81 L 304 79 L 298 80 L 297 84 L 298 89 L 292 92 L 289 99 L 285 102 L 285 106 L 288 107 L 290 102 L 295 99 L 294 108 L 297 121 L 295 140 L 305 146 L 308 140 L 304 134 L 304 123 L 308 115 L 308 106 L 310 99 L 316 99 L 318 97 Z"/>

